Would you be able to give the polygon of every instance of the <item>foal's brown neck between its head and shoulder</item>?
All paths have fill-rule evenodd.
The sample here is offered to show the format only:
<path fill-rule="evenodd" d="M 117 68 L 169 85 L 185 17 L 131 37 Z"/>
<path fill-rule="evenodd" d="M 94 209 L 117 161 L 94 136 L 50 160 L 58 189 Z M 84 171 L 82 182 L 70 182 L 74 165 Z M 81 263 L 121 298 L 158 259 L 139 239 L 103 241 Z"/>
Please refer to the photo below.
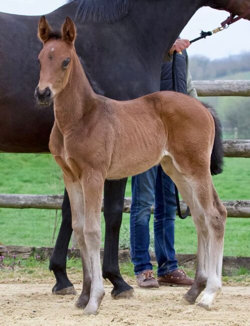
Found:
<path fill-rule="evenodd" d="M 74 55 L 67 84 L 55 96 L 55 120 L 62 132 L 74 127 L 94 108 L 94 93 L 80 60 Z"/>

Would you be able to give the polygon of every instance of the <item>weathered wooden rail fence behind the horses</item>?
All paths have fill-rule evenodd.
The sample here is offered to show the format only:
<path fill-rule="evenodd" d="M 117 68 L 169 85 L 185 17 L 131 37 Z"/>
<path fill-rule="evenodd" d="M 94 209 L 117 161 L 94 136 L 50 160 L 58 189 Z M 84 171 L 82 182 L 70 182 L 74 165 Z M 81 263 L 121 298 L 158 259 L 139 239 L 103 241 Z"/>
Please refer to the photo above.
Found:
<path fill-rule="evenodd" d="M 250 80 L 194 81 L 198 96 L 250 96 Z M 224 140 L 226 157 L 250 157 L 250 140 Z M 2 208 L 61 209 L 63 196 L 0 194 Z M 249 201 L 224 201 L 228 217 L 250 218 Z M 126 198 L 124 212 L 130 213 L 131 199 Z M 181 210 L 185 204 L 181 202 Z M 153 207 L 152 207 L 153 212 Z"/>

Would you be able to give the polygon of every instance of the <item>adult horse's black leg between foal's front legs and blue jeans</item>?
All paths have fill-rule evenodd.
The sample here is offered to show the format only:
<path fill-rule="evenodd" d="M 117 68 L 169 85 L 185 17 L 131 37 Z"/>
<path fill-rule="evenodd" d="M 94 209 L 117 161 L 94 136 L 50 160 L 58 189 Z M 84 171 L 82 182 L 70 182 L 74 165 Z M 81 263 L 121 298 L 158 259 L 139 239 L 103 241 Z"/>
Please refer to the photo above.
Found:
<path fill-rule="evenodd" d="M 118 264 L 119 233 L 122 223 L 124 194 L 127 178 L 106 180 L 104 185 L 105 244 L 102 275 L 114 285 L 114 298 L 130 297 L 134 289 L 124 281 Z"/>

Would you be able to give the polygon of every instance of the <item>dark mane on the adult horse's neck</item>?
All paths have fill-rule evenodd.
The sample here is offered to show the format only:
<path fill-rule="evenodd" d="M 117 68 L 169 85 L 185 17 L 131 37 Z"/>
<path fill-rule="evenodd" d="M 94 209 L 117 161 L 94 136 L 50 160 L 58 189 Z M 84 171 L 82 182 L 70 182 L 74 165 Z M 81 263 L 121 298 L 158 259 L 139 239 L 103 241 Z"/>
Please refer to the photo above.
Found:
<path fill-rule="evenodd" d="M 78 2 L 76 18 L 83 21 L 112 23 L 128 14 L 132 0 L 68 0 Z"/>

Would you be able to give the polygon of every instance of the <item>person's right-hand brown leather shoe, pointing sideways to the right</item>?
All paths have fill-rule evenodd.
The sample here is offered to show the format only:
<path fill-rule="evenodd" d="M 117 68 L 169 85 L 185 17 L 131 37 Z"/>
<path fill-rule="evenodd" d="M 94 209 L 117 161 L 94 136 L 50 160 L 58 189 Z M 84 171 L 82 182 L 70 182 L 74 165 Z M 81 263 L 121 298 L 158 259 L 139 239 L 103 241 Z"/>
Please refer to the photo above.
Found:
<path fill-rule="evenodd" d="M 193 281 L 193 278 L 188 277 L 183 269 L 176 269 L 171 274 L 158 276 L 160 285 L 191 286 Z"/>

